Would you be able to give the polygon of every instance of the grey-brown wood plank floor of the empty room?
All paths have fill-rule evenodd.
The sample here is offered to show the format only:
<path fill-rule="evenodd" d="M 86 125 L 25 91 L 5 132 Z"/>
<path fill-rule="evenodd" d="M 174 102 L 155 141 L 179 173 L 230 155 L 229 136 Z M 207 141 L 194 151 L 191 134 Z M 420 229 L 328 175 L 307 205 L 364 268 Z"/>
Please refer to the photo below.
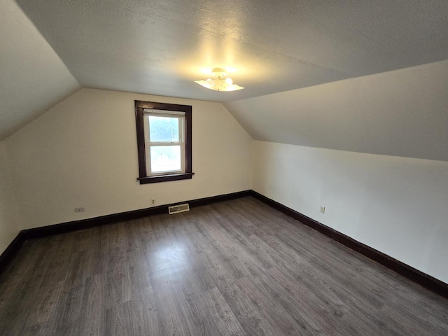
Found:
<path fill-rule="evenodd" d="M 0 335 L 448 335 L 448 300 L 246 197 L 28 241 Z"/>

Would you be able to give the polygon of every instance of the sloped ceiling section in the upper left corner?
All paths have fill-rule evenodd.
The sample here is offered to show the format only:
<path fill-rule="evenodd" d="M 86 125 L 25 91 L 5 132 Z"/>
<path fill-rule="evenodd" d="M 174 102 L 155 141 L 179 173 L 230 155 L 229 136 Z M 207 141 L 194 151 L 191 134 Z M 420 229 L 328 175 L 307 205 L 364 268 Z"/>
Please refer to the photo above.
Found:
<path fill-rule="evenodd" d="M 12 0 L 0 0 L 0 141 L 80 88 Z"/>

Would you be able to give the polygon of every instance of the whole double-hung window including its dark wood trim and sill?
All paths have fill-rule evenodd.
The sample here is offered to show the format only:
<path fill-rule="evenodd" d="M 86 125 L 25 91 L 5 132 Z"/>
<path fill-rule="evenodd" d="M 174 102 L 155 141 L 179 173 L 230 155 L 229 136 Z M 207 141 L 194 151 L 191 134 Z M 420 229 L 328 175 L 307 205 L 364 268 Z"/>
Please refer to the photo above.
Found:
<path fill-rule="evenodd" d="M 192 178 L 191 110 L 135 101 L 140 184 Z"/>

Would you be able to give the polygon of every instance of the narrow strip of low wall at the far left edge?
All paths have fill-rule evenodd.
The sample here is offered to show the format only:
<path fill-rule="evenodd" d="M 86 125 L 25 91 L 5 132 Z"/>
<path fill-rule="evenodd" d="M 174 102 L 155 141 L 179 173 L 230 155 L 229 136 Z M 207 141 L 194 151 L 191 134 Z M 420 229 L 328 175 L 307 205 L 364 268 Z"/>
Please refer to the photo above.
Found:
<path fill-rule="evenodd" d="M 0 254 L 20 232 L 15 188 L 4 141 L 0 141 Z"/>

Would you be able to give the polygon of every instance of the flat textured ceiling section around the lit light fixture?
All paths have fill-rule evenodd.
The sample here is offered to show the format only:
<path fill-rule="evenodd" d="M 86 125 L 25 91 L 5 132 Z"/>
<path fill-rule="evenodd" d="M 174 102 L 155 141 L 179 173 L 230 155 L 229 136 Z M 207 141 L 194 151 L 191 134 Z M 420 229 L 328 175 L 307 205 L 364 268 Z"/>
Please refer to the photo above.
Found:
<path fill-rule="evenodd" d="M 84 87 L 228 102 L 448 59 L 447 0 L 18 0 Z M 237 69 L 237 92 L 193 83 Z"/>

